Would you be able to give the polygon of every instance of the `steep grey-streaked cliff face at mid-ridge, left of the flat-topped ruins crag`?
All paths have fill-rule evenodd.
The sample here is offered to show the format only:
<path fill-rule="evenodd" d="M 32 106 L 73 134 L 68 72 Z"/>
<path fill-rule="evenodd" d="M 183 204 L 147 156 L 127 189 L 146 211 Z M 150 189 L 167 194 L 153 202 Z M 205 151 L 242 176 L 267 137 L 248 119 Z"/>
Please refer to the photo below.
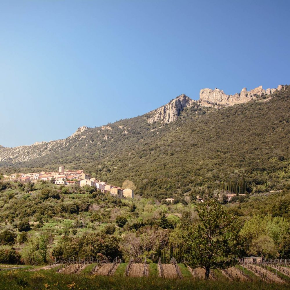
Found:
<path fill-rule="evenodd" d="M 153 110 L 149 113 L 149 118 L 147 121 L 149 123 L 163 121 L 165 123 L 170 123 L 177 120 L 180 112 L 184 108 L 190 107 L 195 103 L 191 98 L 186 95 L 180 95 L 177 98 L 171 100 L 168 104 Z"/>

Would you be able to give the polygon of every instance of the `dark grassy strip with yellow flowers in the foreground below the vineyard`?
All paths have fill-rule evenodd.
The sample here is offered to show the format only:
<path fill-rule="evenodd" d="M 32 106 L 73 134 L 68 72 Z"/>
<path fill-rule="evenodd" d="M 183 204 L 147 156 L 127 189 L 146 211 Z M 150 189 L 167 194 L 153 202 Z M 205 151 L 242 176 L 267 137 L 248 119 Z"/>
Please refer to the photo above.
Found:
<path fill-rule="evenodd" d="M 157 266 L 157 264 L 155 264 Z M 153 265 L 153 266 L 155 266 Z M 37 272 L 28 272 L 23 269 L 1 271 L 0 285 L 1 290 L 12 289 L 78 289 L 78 290 L 95 290 L 95 289 L 162 289 L 162 290 L 177 290 L 177 289 L 264 289 L 264 290 L 286 290 L 289 289 L 289 284 L 266 284 L 261 280 L 253 282 L 230 282 L 226 279 L 216 281 L 192 279 L 187 274 L 184 279 L 162 279 L 156 273 L 157 267 L 149 266 L 150 276 L 148 278 L 132 278 L 125 277 L 124 272 L 126 264 L 120 264 L 115 275 L 113 276 L 88 276 L 86 274 L 66 275 L 55 273 L 55 271 L 40 270 Z M 155 269 L 156 268 L 156 269 Z M 185 269 L 182 270 L 185 273 Z"/>

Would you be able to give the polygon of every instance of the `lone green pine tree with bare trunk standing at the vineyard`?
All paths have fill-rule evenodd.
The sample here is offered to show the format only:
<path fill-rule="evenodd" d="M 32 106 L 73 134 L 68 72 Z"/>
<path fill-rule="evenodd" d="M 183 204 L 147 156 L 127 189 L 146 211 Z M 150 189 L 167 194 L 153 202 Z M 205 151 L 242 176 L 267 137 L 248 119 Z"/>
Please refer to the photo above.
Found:
<path fill-rule="evenodd" d="M 211 269 L 226 269 L 236 263 L 240 249 L 238 227 L 215 200 L 200 204 L 197 213 L 200 223 L 183 237 L 186 258 L 191 267 L 204 268 L 208 279 Z"/>

